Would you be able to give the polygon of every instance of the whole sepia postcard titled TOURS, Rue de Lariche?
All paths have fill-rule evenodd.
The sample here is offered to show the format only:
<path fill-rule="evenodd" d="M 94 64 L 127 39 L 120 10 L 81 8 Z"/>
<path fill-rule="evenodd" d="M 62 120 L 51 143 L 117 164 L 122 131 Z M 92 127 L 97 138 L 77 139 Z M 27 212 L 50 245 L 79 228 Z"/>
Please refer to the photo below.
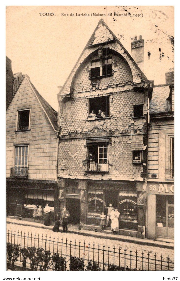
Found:
<path fill-rule="evenodd" d="M 174 270 L 174 6 L 7 6 L 6 206 L 8 271 Z"/>

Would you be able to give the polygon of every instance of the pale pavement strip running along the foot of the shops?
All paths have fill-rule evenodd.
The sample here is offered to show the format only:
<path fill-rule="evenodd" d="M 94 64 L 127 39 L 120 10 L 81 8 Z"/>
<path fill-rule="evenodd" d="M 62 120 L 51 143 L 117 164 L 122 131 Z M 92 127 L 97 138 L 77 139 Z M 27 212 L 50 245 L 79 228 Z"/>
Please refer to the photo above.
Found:
<path fill-rule="evenodd" d="M 22 221 L 19 219 L 13 219 L 10 217 L 6 217 L 6 223 L 7 224 L 17 224 L 17 225 L 26 225 L 26 226 L 32 226 L 36 228 L 44 228 L 44 229 L 49 229 L 51 230 L 53 228 L 52 225 L 50 226 L 45 226 L 41 223 L 37 222 L 32 222 L 32 221 Z M 7 229 L 10 228 L 7 225 Z M 112 239 L 116 241 L 126 241 L 126 242 L 131 242 L 131 243 L 137 243 L 141 245 L 149 245 L 149 246 L 155 246 L 155 247 L 161 247 L 161 248 L 169 248 L 169 249 L 174 249 L 174 243 L 173 241 L 168 242 L 163 242 L 163 241 L 158 241 L 158 240 L 152 240 L 152 239 L 140 239 L 136 237 L 130 237 L 130 236 L 125 236 L 125 235 L 115 235 L 115 234 L 105 234 L 101 232 L 94 232 L 94 231 L 89 231 L 89 230 L 84 230 L 84 229 L 78 229 L 77 225 L 68 225 L 68 232 L 69 233 L 76 233 L 79 235 L 85 235 L 85 236 L 92 236 L 96 238 L 104 238 L 104 239 Z"/>

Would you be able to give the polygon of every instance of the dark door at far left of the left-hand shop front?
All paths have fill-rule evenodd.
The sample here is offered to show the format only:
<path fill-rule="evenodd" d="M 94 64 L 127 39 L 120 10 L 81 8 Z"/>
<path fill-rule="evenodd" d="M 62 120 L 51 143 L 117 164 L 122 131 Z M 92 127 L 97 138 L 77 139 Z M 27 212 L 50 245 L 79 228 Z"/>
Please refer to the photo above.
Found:
<path fill-rule="evenodd" d="M 23 192 L 20 191 L 13 191 L 9 194 L 9 215 L 13 216 L 22 216 L 22 199 L 23 199 Z"/>

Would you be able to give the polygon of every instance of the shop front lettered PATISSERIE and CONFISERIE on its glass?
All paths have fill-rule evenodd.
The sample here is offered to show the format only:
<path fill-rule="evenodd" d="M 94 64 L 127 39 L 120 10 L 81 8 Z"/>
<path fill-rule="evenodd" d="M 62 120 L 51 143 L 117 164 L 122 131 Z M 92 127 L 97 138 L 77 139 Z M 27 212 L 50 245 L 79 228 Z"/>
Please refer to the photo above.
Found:
<path fill-rule="evenodd" d="M 119 228 L 137 230 L 137 190 L 135 184 L 87 182 L 87 225 L 100 225 L 109 204 L 119 210 Z"/>

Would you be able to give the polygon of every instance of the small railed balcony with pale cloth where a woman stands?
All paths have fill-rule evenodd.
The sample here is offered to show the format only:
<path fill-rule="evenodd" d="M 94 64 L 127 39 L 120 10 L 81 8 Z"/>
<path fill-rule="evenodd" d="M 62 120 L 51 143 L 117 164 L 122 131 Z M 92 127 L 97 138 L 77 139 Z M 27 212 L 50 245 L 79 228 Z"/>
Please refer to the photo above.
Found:
<path fill-rule="evenodd" d="M 85 160 L 86 172 L 109 172 L 109 162 L 107 160 Z"/>

